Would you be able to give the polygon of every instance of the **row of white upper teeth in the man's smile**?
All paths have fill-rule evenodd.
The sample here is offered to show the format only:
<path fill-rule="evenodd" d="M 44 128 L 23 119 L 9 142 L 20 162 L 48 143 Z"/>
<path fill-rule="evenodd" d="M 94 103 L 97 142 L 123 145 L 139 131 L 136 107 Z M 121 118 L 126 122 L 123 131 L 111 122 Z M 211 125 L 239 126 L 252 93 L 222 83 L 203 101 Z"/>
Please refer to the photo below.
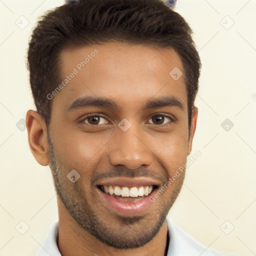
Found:
<path fill-rule="evenodd" d="M 137 196 L 143 196 L 148 195 L 152 192 L 153 186 L 116 186 L 116 185 L 103 185 L 101 186 L 105 193 L 108 193 L 110 195 L 121 195 L 122 197 L 137 197 Z"/>

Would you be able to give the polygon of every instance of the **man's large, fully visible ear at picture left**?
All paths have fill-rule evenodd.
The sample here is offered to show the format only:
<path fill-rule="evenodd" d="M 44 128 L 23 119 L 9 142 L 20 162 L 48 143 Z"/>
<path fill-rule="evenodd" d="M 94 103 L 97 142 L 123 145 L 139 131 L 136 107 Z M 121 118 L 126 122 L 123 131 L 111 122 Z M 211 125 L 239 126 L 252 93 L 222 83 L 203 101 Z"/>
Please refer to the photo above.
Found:
<path fill-rule="evenodd" d="M 27 111 L 26 129 L 28 144 L 35 160 L 43 166 L 48 165 L 47 127 L 38 112 L 31 109 Z"/>

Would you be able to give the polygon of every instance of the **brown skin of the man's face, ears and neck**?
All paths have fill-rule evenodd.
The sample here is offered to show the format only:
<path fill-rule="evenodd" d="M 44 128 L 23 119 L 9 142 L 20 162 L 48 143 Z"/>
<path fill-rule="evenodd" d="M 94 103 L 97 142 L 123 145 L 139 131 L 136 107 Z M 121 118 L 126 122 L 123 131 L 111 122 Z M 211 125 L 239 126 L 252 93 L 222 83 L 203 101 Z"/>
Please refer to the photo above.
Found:
<path fill-rule="evenodd" d="M 149 209 L 138 214 L 108 207 L 95 184 L 101 174 L 150 174 L 160 184 L 166 183 L 191 152 L 198 109 L 193 107 L 188 139 L 184 76 L 175 81 L 169 75 L 174 67 L 184 71 L 171 48 L 118 42 L 69 45 L 60 54 L 63 79 L 95 48 L 98 54 L 52 99 L 48 131 L 38 112 L 28 110 L 26 115 L 31 152 L 39 164 L 49 165 L 52 171 L 59 214 L 58 247 L 63 256 L 162 256 L 167 234 L 165 217 L 184 174 Z M 112 99 L 120 109 L 87 106 L 67 110 L 75 99 L 88 95 Z M 170 95 L 182 103 L 183 109 L 144 109 L 148 100 Z M 103 116 L 98 126 L 85 119 L 91 113 Z M 174 121 L 168 117 L 157 121 L 152 118 L 157 114 L 168 115 Z M 118 127 L 123 118 L 131 123 L 125 132 Z M 72 169 L 80 174 L 75 183 L 66 177 Z"/>

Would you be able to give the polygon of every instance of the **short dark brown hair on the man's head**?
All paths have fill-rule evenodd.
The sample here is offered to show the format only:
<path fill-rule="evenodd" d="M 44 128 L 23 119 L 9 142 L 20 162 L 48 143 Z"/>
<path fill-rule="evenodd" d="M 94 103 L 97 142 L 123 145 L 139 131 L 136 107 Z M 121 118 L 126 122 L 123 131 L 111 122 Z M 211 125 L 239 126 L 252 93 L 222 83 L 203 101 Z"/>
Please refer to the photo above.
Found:
<path fill-rule="evenodd" d="M 58 57 L 68 43 L 119 41 L 172 47 L 184 68 L 190 127 L 201 67 L 191 34 L 184 18 L 162 0 L 80 0 L 76 6 L 64 4 L 49 10 L 38 20 L 27 52 L 36 109 L 48 125 L 51 100 L 46 95 L 61 81 Z"/>

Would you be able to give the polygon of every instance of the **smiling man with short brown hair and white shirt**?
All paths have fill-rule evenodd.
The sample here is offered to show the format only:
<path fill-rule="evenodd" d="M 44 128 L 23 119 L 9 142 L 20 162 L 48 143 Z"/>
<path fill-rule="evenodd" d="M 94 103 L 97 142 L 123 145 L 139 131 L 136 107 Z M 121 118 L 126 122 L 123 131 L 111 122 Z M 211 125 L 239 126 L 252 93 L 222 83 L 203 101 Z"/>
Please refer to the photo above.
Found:
<path fill-rule="evenodd" d="M 200 59 L 178 13 L 161 0 L 57 7 L 33 30 L 28 67 L 29 146 L 59 215 L 37 256 L 220 255 L 166 219 L 198 113 Z"/>

